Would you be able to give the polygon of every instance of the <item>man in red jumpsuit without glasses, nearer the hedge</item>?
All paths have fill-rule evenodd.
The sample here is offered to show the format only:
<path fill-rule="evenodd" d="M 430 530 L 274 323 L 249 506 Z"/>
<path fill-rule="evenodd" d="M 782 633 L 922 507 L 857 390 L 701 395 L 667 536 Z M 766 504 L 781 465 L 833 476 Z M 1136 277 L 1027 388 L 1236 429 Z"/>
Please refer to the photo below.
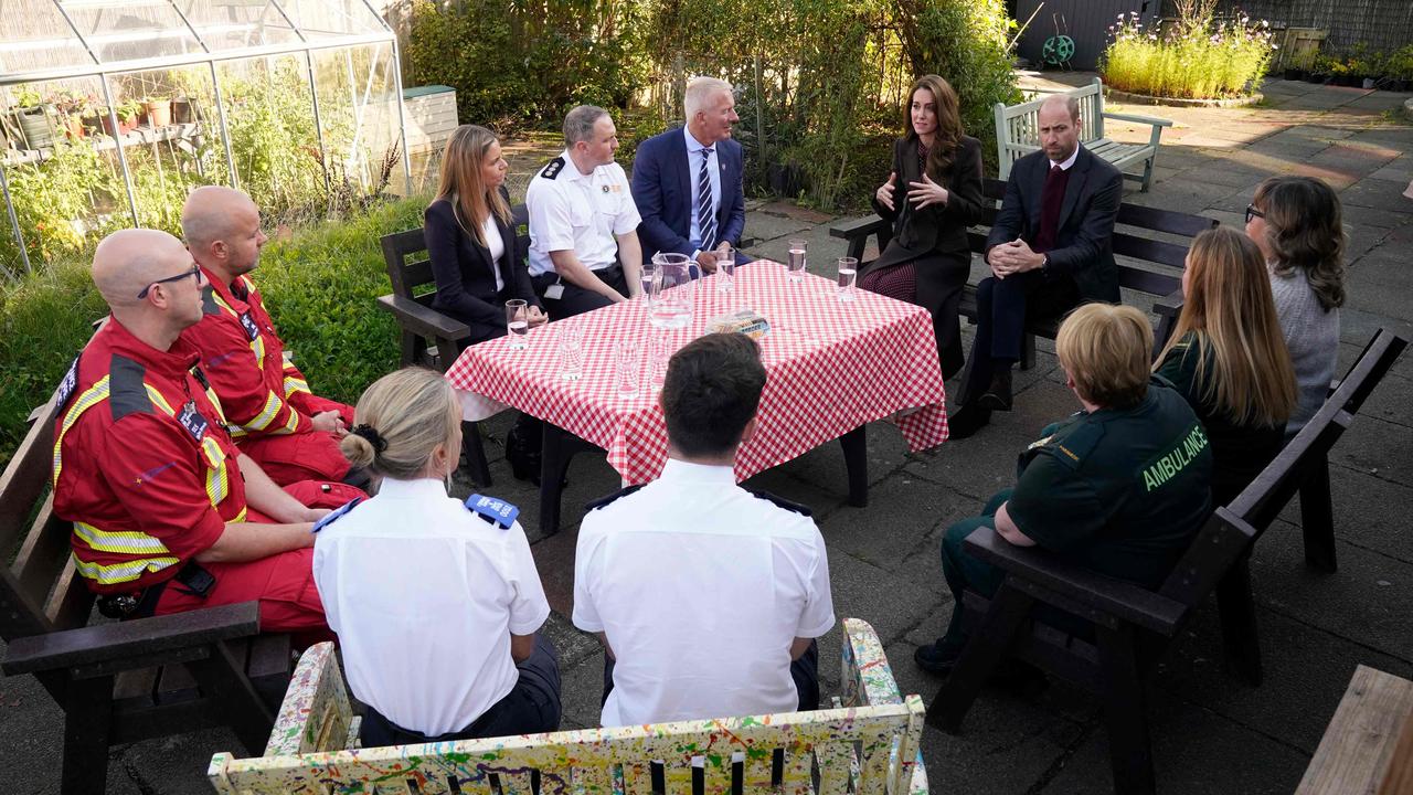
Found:
<path fill-rule="evenodd" d="M 366 482 L 360 472 L 349 477 L 339 453 L 353 407 L 309 392 L 247 276 L 267 240 L 254 202 L 232 188 L 198 188 L 182 208 L 182 235 L 209 283 L 202 320 L 182 338 L 201 351 L 240 451 L 278 484 Z"/>

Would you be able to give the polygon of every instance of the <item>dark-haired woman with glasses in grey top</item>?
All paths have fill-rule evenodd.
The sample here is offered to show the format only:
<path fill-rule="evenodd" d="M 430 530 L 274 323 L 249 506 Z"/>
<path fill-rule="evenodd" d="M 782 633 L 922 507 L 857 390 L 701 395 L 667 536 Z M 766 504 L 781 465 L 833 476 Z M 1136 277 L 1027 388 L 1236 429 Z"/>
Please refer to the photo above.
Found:
<path fill-rule="evenodd" d="M 1340 197 L 1313 177 L 1272 177 L 1246 207 L 1246 235 L 1270 269 L 1276 315 L 1296 368 L 1300 402 L 1291 437 L 1324 403 L 1340 358 L 1344 225 Z"/>

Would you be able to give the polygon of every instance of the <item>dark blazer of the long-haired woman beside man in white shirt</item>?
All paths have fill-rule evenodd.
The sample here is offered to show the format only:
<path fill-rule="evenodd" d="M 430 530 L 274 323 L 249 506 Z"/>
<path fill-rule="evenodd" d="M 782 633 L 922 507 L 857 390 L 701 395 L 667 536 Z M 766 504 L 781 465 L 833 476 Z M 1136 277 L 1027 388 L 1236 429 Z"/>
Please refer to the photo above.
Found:
<path fill-rule="evenodd" d="M 500 188 L 500 195 L 509 202 L 504 187 Z M 524 298 L 530 306 L 541 306 L 530 286 L 530 272 L 526 270 L 513 226 L 496 218 L 496 229 L 506 243 L 506 252 L 492 262 L 490 250 L 456 222 L 451 201 L 434 201 L 422 219 L 427 255 L 437 280 L 432 308 L 469 325 L 475 341 L 506 332 L 506 298 Z M 506 286 L 503 293 L 496 291 L 493 269 L 500 272 L 500 280 Z"/>

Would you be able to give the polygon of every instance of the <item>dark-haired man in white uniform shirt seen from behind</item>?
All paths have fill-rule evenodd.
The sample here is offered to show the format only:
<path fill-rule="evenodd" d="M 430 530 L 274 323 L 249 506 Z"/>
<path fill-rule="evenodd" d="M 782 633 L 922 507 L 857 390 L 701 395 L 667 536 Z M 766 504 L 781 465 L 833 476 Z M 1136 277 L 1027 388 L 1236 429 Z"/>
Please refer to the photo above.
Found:
<path fill-rule="evenodd" d="M 603 726 L 818 707 L 814 639 L 834 627 L 824 538 L 733 471 L 764 383 L 749 337 L 690 342 L 663 385 L 663 475 L 584 518 L 574 624 L 605 646 Z"/>

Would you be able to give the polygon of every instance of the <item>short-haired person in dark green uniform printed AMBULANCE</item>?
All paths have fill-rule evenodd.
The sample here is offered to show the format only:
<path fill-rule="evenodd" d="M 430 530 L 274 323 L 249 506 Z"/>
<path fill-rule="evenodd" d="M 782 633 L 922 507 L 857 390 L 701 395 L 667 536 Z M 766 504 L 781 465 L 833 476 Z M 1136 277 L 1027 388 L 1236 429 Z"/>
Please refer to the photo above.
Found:
<path fill-rule="evenodd" d="M 1026 447 L 1015 488 L 947 529 L 952 618 L 917 649 L 920 668 L 951 673 L 966 645 L 962 593 L 989 598 L 1000 587 L 1002 570 L 966 552 L 976 528 L 1146 588 L 1163 584 L 1211 511 L 1212 453 L 1183 395 L 1149 373 L 1152 349 L 1153 328 L 1133 307 L 1087 304 L 1065 318 L 1056 354 L 1082 410 Z"/>

